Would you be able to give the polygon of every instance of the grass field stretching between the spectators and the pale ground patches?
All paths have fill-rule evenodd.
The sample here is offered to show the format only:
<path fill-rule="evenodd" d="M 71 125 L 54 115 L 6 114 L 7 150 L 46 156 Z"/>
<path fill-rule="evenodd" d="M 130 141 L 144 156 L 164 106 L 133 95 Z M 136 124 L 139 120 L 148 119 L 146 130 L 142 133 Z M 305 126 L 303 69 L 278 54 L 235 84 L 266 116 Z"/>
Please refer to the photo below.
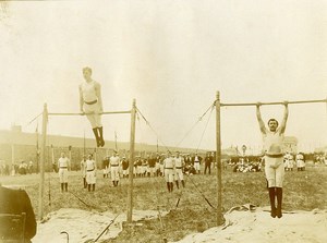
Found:
<path fill-rule="evenodd" d="M 283 186 L 284 210 L 327 209 L 327 167 L 307 167 L 305 171 L 287 171 Z M 39 175 L 1 178 L 3 185 L 24 186 L 38 212 Z M 110 179 L 97 175 L 95 192 L 83 189 L 78 172 L 71 172 L 69 193 L 60 192 L 57 174 L 46 174 L 44 215 L 59 208 L 80 208 L 112 212 L 126 211 L 128 179 L 112 187 Z M 170 210 L 162 220 L 144 220 L 142 226 L 125 226 L 120 235 L 106 242 L 162 242 L 177 241 L 191 232 L 216 226 L 216 210 L 207 201 L 217 205 L 217 178 L 214 174 L 185 177 L 186 187 L 169 194 L 164 178 L 137 178 L 134 180 L 134 209 Z M 243 204 L 268 206 L 266 181 L 263 172 L 234 173 L 231 168 L 222 171 L 223 211 Z M 77 198 L 78 197 L 78 198 Z M 178 198 L 180 198 L 177 207 Z M 206 199 L 207 201 L 206 201 Z M 83 203 L 81 202 L 83 201 Z"/>

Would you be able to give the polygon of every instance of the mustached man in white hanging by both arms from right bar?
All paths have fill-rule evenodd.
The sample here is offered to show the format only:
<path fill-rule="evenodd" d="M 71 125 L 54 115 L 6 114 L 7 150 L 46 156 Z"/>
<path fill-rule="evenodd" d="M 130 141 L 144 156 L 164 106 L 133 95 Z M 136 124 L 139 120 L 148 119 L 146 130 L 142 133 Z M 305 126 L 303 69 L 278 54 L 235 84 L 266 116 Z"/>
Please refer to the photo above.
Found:
<path fill-rule="evenodd" d="M 281 202 L 282 182 L 284 177 L 282 142 L 289 114 L 288 102 L 283 102 L 283 106 L 284 112 L 280 126 L 278 127 L 278 121 L 276 119 L 270 119 L 268 121 L 268 129 L 266 129 L 259 110 L 261 104 L 256 105 L 256 117 L 263 135 L 264 150 L 266 154 L 265 174 L 268 182 L 269 199 L 271 206 L 270 215 L 272 218 L 276 218 L 276 216 L 278 218 L 282 217 Z M 277 197 L 277 208 L 275 206 L 275 197 Z"/>

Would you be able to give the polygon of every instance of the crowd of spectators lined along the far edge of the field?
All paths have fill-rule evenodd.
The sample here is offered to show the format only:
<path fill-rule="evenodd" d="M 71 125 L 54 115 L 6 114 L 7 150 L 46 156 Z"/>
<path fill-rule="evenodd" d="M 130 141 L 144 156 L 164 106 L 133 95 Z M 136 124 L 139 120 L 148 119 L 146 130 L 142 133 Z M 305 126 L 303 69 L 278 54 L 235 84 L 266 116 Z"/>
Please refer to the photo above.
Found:
<path fill-rule="evenodd" d="M 119 156 L 119 155 L 118 155 Z M 135 178 L 143 177 L 164 177 L 164 160 L 167 154 L 149 153 L 144 156 L 135 156 L 133 162 L 133 174 Z M 172 158 L 175 154 L 172 153 Z M 211 170 L 215 168 L 215 153 L 184 153 L 181 154 L 183 161 L 183 173 L 187 174 L 210 174 Z M 195 159 L 197 157 L 197 159 Z M 327 154 L 315 153 L 313 155 L 305 155 L 304 153 L 291 154 L 286 153 L 283 157 L 283 165 L 286 171 L 303 171 L 308 159 L 313 161 L 314 166 L 325 165 L 327 166 Z M 120 158 L 119 172 L 122 178 L 129 175 L 129 157 L 122 155 Z M 109 159 L 107 156 L 102 159 L 101 168 L 104 174 L 109 174 Z M 232 168 L 233 172 L 258 172 L 263 170 L 265 165 L 264 157 L 262 156 L 232 156 L 229 158 L 221 159 L 222 169 L 228 167 Z M 77 167 L 80 168 L 80 166 Z M 107 168 L 107 169 L 106 169 Z M 52 170 L 55 172 L 59 171 L 58 163 L 52 165 Z M 31 174 L 36 173 L 37 168 L 33 161 L 26 162 L 24 160 L 15 162 L 14 165 L 9 165 L 4 160 L 0 160 L 0 175 L 17 175 L 17 174 Z"/>

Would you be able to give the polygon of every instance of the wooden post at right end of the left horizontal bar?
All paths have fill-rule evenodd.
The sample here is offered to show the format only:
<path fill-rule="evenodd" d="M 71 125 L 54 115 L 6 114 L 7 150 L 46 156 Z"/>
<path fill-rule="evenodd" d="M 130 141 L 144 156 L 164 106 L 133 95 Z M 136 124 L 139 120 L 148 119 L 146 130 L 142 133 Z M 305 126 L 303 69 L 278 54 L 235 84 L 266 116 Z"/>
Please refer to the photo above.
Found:
<path fill-rule="evenodd" d="M 135 148 L 135 119 L 136 100 L 133 99 L 131 111 L 131 139 L 130 139 L 130 161 L 129 161 L 129 194 L 128 194 L 128 222 L 132 222 L 133 216 L 133 168 L 134 168 L 134 148 Z"/>

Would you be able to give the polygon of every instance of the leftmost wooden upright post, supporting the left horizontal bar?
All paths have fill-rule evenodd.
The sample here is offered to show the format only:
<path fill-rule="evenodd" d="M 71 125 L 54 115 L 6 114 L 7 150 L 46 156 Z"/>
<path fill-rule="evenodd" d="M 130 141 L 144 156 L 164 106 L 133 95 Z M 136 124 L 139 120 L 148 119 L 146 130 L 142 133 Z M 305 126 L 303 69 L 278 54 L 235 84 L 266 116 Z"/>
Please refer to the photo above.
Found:
<path fill-rule="evenodd" d="M 43 144 L 41 144 L 41 158 L 39 163 L 39 193 L 38 193 L 38 218 L 44 218 L 44 195 L 45 195 L 45 161 L 46 161 L 46 143 L 47 143 L 47 123 L 48 123 L 48 109 L 47 104 L 44 105 L 43 113 Z"/>

